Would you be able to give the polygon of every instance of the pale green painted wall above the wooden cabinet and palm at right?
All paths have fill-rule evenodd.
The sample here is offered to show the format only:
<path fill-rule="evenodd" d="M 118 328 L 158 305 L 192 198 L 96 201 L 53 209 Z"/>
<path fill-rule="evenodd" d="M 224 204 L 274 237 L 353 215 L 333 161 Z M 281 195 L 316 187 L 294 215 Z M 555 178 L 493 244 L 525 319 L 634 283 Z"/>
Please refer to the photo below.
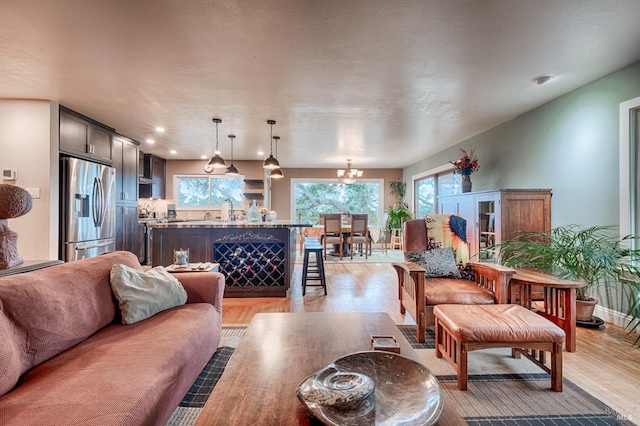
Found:
<path fill-rule="evenodd" d="M 640 96 L 640 62 L 473 136 L 403 170 L 411 177 L 472 148 L 473 190 L 551 188 L 552 224 L 619 222 L 619 104 Z"/>

